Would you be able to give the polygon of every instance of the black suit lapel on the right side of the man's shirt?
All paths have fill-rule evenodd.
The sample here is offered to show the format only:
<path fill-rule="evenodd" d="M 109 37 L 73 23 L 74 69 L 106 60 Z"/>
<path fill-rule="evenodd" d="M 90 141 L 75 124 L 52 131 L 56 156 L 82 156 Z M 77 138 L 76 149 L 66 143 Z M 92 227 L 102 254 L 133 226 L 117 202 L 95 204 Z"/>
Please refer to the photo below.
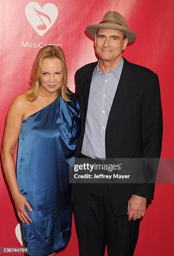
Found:
<path fill-rule="evenodd" d="M 124 59 L 124 58 L 123 58 Z M 110 125 L 111 121 L 117 115 L 121 106 L 130 95 L 130 92 L 134 89 L 133 75 L 131 73 L 130 63 L 124 59 L 123 69 L 121 72 L 120 80 L 118 83 L 117 90 L 113 99 L 113 104 L 110 109 L 110 114 L 107 120 L 107 126 Z"/>

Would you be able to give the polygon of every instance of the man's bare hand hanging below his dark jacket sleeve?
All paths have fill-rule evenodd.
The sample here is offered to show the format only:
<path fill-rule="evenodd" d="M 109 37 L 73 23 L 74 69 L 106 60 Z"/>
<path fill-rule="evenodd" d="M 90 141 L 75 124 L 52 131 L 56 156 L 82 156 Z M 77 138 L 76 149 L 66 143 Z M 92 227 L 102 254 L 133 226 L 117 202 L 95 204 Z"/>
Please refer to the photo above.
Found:
<path fill-rule="evenodd" d="M 141 219 L 146 212 L 147 199 L 138 195 L 132 195 L 128 201 L 128 221 Z"/>

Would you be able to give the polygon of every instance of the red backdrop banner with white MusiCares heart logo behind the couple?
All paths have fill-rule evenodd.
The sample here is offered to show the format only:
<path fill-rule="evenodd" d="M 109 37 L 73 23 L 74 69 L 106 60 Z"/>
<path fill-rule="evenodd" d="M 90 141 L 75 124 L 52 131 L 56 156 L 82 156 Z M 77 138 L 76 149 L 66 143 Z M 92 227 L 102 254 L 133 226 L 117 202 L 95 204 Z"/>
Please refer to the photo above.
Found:
<path fill-rule="evenodd" d="M 128 27 L 137 35 L 123 56 L 130 62 L 148 67 L 159 76 L 164 118 L 161 157 L 174 157 L 173 0 L 0 1 L 1 140 L 13 98 L 29 88 L 31 67 L 38 50 L 49 44 L 63 49 L 68 67 L 68 86 L 74 91 L 76 70 L 97 60 L 94 42 L 85 33 L 85 28 L 99 23 L 108 10 L 121 13 Z M 141 220 L 135 256 L 174 255 L 173 197 L 174 184 L 156 184 L 154 201 Z M 20 226 L 2 171 L 0 247 L 21 245 Z M 69 245 L 59 255 L 79 255 L 74 220 Z"/>

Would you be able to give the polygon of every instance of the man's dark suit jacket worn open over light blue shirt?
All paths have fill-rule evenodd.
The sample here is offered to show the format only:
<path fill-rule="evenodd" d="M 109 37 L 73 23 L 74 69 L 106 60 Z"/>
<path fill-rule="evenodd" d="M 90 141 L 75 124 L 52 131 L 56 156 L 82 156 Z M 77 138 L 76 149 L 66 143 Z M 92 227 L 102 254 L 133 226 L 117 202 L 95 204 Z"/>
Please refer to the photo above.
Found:
<path fill-rule="evenodd" d="M 90 84 L 96 65 L 97 62 L 87 64 L 75 74 L 82 125 L 77 157 L 82 149 Z M 105 131 L 106 158 L 159 158 L 162 130 L 158 76 L 124 59 Z M 154 198 L 154 184 L 108 184 L 108 191 L 115 215 L 127 213 L 132 194 Z"/>

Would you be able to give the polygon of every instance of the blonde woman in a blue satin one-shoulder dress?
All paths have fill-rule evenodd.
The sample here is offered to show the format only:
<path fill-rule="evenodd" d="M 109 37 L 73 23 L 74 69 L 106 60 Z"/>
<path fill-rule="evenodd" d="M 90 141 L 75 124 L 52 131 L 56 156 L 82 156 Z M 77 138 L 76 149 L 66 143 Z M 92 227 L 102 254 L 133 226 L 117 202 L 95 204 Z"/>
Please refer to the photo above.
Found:
<path fill-rule="evenodd" d="M 45 46 L 33 64 L 31 89 L 10 106 L 1 152 L 29 255 L 53 256 L 69 242 L 69 164 L 78 135 L 79 103 L 67 88 L 64 53 Z M 16 180 L 13 152 L 18 138 Z"/>

